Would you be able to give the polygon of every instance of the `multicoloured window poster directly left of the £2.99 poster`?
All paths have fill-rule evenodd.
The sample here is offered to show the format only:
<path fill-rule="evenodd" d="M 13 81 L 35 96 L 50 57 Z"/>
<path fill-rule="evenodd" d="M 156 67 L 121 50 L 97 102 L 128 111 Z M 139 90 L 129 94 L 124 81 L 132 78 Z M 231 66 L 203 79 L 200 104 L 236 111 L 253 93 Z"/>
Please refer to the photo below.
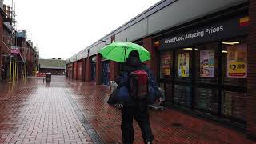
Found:
<path fill-rule="evenodd" d="M 200 77 L 214 77 L 214 50 L 200 51 Z"/>

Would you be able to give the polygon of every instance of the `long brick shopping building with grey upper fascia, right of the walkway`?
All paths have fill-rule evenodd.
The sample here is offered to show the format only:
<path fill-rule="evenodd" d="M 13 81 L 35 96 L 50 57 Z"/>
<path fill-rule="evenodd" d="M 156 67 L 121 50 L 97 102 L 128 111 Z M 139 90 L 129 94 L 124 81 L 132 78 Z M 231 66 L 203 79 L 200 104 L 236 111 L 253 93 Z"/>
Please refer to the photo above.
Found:
<path fill-rule="evenodd" d="M 162 0 L 67 59 L 66 75 L 109 85 L 122 64 L 98 51 L 135 42 L 150 51 L 166 106 L 256 138 L 255 18 L 254 0 Z"/>

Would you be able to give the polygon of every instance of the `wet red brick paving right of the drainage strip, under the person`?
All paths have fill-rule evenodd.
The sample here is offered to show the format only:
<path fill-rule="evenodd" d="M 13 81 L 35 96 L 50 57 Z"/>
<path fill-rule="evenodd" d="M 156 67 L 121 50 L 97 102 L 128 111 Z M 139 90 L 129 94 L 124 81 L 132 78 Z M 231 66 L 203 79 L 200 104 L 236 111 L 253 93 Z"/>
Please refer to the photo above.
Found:
<path fill-rule="evenodd" d="M 106 143 L 122 143 L 120 110 L 109 106 L 108 86 L 70 81 L 70 93 L 90 124 Z M 176 110 L 150 110 L 154 143 L 170 144 L 252 144 L 246 135 L 212 122 L 182 114 Z M 180 123 L 183 126 L 173 126 Z M 134 143 L 142 143 L 139 126 L 134 122 Z"/>

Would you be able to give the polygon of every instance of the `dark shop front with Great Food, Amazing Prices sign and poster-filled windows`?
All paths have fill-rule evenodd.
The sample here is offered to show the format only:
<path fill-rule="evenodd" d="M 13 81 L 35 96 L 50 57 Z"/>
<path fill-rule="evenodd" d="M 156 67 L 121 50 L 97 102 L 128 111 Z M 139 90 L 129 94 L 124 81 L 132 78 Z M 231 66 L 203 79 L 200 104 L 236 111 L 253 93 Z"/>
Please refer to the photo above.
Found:
<path fill-rule="evenodd" d="M 218 18 L 156 40 L 167 105 L 246 123 L 248 22 L 246 14 Z"/>

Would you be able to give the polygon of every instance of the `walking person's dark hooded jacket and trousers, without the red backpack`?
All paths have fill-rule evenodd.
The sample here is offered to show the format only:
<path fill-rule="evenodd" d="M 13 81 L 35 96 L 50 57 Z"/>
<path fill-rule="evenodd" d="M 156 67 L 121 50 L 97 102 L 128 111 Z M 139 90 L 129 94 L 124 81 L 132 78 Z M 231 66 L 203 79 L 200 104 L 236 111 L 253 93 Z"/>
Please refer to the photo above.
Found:
<path fill-rule="evenodd" d="M 158 100 L 160 97 L 160 92 L 158 86 L 154 82 L 154 76 L 152 71 L 142 63 L 139 57 L 137 50 L 132 50 L 126 58 L 123 72 L 118 77 L 118 86 L 127 86 L 129 85 L 129 74 L 137 70 L 144 70 L 148 74 L 150 86 L 154 87 L 154 91 L 150 93 L 155 94 L 157 97 L 155 100 Z M 129 87 L 129 86 L 128 86 Z M 142 138 L 146 144 L 150 144 L 154 140 L 152 130 L 150 128 L 150 118 L 148 113 L 148 104 L 149 101 L 134 101 L 134 104 L 124 104 L 122 107 L 122 142 L 124 144 L 130 144 L 134 142 L 134 128 L 133 128 L 133 118 L 138 122 L 142 130 Z"/>

